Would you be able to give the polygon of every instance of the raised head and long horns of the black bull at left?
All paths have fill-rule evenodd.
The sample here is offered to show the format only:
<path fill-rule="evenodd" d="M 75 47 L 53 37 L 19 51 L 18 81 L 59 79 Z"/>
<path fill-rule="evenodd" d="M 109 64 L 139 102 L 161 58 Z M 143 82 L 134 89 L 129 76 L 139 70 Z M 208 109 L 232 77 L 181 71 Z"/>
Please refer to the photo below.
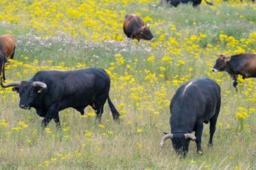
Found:
<path fill-rule="evenodd" d="M 30 109 L 38 95 L 47 89 L 47 85 L 41 81 L 18 81 L 3 85 L 1 80 L 1 87 L 13 87 L 12 91 L 16 91 L 21 98 L 20 107 L 22 109 Z"/>

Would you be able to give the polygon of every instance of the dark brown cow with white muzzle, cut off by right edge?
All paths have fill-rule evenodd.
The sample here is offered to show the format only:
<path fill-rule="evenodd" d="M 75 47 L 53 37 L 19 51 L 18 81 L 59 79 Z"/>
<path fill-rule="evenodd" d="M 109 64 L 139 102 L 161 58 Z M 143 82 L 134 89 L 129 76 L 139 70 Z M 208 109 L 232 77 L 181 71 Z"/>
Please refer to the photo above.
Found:
<path fill-rule="evenodd" d="M 239 55 L 219 55 L 213 72 L 226 71 L 233 79 L 233 87 L 238 91 L 238 75 L 242 75 L 242 79 L 256 77 L 256 54 L 239 54 Z"/>

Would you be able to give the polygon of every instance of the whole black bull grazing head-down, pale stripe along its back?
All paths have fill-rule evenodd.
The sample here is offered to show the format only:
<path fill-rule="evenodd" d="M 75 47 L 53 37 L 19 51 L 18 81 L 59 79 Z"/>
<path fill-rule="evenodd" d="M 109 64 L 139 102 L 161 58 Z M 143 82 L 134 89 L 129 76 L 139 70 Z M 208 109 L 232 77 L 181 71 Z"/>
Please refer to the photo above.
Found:
<path fill-rule="evenodd" d="M 193 79 L 177 89 L 170 102 L 171 133 L 162 137 L 161 145 L 172 139 L 175 151 L 185 156 L 190 140 L 196 141 L 197 152 L 201 153 L 203 123 L 209 126 L 209 146 L 216 129 L 220 111 L 220 87 L 209 78 Z M 194 131 L 196 134 L 192 134 Z"/>

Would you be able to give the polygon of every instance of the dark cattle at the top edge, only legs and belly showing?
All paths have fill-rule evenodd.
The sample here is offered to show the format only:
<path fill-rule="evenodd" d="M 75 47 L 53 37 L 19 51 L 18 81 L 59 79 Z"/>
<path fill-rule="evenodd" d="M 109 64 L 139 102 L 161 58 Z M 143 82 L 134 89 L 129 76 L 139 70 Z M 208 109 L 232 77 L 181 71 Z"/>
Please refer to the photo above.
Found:
<path fill-rule="evenodd" d="M 151 5 L 151 6 L 158 7 L 159 5 L 162 5 L 162 3 L 168 3 L 171 6 L 177 7 L 181 3 L 192 3 L 193 7 L 196 7 L 196 6 L 200 5 L 201 2 L 202 2 L 202 0 L 160 0 L 157 5 L 155 5 L 155 6 Z M 208 5 L 214 5 L 213 3 L 207 2 L 206 0 L 205 0 L 205 2 Z"/>

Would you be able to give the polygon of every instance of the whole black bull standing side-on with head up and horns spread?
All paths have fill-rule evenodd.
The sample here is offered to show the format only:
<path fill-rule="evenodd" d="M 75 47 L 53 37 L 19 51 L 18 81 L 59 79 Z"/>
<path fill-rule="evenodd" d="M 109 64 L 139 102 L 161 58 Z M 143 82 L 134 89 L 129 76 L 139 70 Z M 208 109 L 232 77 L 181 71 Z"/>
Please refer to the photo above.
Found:
<path fill-rule="evenodd" d="M 13 90 L 21 98 L 22 109 L 34 107 L 41 117 L 42 127 L 53 119 L 60 126 L 59 111 L 73 107 L 84 115 L 84 109 L 90 105 L 101 120 L 103 107 L 107 100 L 114 120 L 119 113 L 109 96 L 110 76 L 103 69 L 88 68 L 81 70 L 51 70 L 37 72 L 29 81 L 7 83 L 2 87 L 14 86 Z"/>

